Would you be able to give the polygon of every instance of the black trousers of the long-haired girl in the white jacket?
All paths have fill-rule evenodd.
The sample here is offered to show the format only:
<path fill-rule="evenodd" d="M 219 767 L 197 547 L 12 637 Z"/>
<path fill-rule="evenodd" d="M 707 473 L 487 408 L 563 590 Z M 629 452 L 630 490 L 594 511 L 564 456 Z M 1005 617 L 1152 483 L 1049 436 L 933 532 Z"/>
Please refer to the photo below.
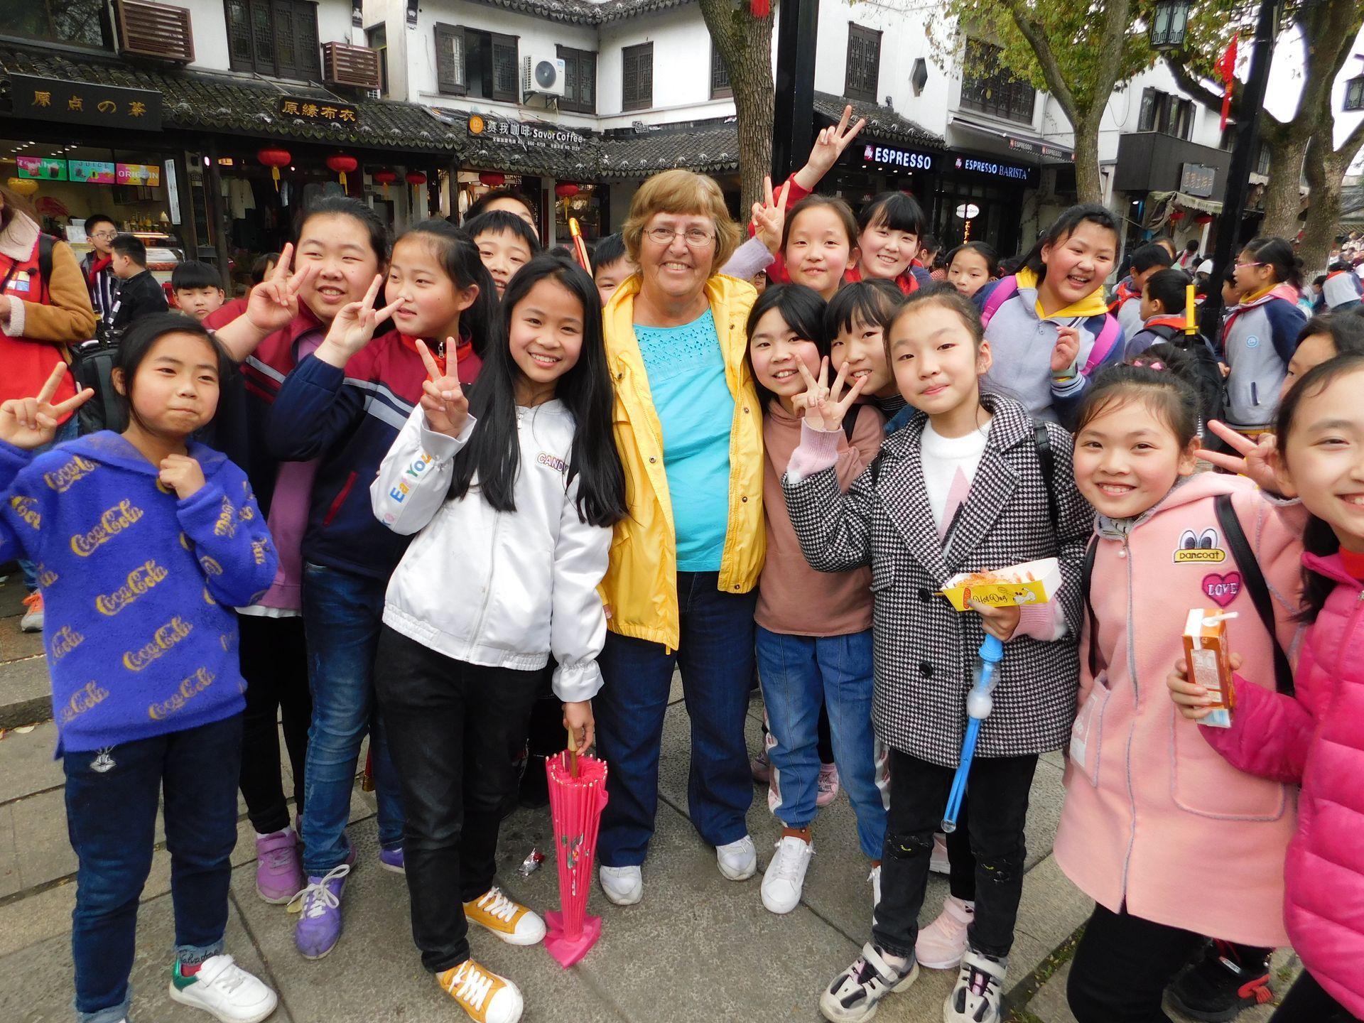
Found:
<path fill-rule="evenodd" d="M 469 958 L 464 903 L 492 887 L 542 678 L 465 664 L 389 626 L 379 634 L 374 681 L 406 810 L 412 940 L 432 973 Z"/>

